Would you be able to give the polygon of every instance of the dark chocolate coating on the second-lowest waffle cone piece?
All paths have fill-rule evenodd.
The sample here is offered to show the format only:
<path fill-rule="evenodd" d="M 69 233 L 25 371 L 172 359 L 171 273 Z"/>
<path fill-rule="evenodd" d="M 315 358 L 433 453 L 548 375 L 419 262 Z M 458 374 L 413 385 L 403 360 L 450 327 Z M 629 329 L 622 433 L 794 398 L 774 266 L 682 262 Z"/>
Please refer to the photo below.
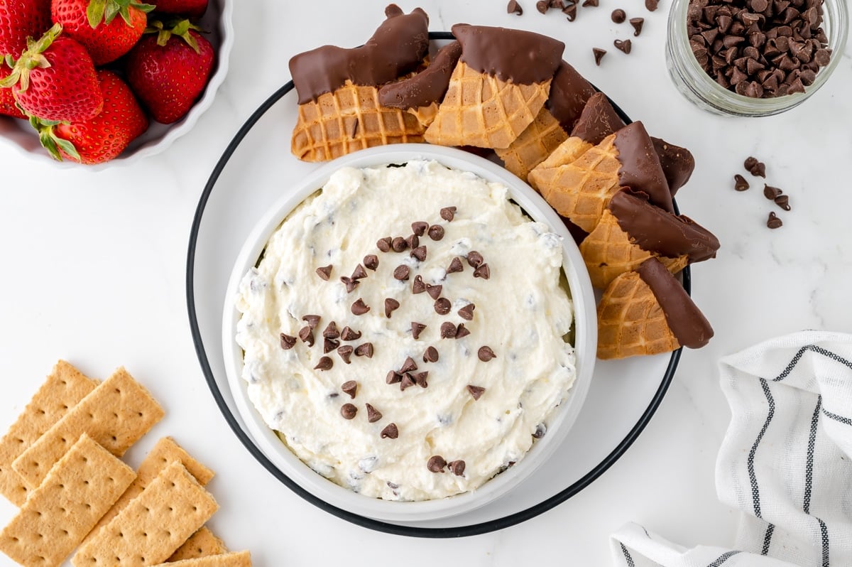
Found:
<path fill-rule="evenodd" d="M 689 262 L 716 257 L 719 240 L 691 218 L 671 214 L 648 203 L 648 195 L 619 191 L 609 210 L 630 240 L 648 252 L 665 257 L 688 256 Z"/>

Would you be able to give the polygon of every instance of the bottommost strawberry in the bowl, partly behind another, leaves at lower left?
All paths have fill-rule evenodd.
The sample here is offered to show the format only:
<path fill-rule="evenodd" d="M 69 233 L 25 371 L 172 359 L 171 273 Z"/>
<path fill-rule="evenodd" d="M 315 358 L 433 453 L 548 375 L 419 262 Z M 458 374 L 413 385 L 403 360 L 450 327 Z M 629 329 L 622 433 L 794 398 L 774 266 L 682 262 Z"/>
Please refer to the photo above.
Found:
<path fill-rule="evenodd" d="M 94 119 L 70 124 L 31 119 L 44 148 L 55 159 L 82 164 L 101 164 L 124 148 L 148 127 L 148 119 L 133 92 L 118 75 L 98 71 L 104 96 L 103 112 Z"/>

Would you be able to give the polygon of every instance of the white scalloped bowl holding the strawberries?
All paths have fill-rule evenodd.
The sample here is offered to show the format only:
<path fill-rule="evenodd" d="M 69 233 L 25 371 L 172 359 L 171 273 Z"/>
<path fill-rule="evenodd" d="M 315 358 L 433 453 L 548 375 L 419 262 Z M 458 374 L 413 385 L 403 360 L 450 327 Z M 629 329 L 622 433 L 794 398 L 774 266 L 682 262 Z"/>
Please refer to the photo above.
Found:
<path fill-rule="evenodd" d="M 159 124 L 151 119 L 151 125 L 148 129 L 133 142 L 130 142 L 130 146 L 116 159 L 100 165 L 85 166 L 67 160 L 56 161 L 42 148 L 35 130 L 32 130 L 26 120 L 13 119 L 8 116 L 0 116 L 0 143 L 32 155 L 35 159 L 44 163 L 60 167 L 85 167 L 89 171 L 111 165 L 130 165 L 139 159 L 164 151 L 164 149 L 169 148 L 172 142 L 192 130 L 195 123 L 199 121 L 199 117 L 213 104 L 216 90 L 219 89 L 227 75 L 228 59 L 233 48 L 232 20 L 232 0 L 210 0 L 207 11 L 199 20 L 199 26 L 209 32 L 204 34 L 204 38 L 207 38 L 213 48 L 216 49 L 216 62 L 210 72 L 210 80 L 204 88 L 204 92 L 190 108 L 187 115 L 176 123 Z"/>

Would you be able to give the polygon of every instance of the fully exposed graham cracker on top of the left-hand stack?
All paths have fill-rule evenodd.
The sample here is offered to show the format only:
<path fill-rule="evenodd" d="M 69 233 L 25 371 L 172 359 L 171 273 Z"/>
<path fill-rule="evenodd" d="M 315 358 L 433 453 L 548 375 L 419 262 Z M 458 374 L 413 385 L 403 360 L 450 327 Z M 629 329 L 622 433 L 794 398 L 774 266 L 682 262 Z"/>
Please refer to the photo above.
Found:
<path fill-rule="evenodd" d="M 0 533 L 0 551 L 27 567 L 61 564 L 135 476 L 83 434 Z"/>

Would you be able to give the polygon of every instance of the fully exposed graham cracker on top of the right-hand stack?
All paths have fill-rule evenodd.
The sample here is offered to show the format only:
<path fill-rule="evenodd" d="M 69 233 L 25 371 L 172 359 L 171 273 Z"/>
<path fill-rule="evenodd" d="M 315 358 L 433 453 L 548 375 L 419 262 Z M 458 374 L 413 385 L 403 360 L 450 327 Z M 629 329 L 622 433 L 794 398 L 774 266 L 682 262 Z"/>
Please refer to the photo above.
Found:
<path fill-rule="evenodd" d="M 174 462 L 83 543 L 72 564 L 141 567 L 163 563 L 218 507 L 187 468 Z"/>

